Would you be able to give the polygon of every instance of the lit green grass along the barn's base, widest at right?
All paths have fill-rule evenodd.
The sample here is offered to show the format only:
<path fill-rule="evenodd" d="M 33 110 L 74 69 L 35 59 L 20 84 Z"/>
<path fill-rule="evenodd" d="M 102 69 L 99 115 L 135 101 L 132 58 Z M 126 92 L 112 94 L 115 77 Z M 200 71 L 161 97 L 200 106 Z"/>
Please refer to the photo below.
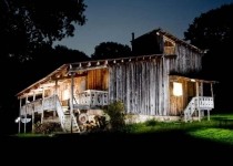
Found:
<path fill-rule="evenodd" d="M 220 115 L 211 115 L 211 121 L 202 120 L 201 122 L 156 122 L 156 121 L 148 121 L 145 123 L 138 123 L 126 125 L 126 134 L 122 133 L 122 135 L 148 135 L 153 134 L 154 137 L 158 135 L 165 135 L 168 133 L 172 133 L 171 135 L 183 134 L 184 139 L 194 138 L 195 141 L 205 139 L 210 142 L 215 142 L 220 144 L 225 144 L 233 146 L 233 114 L 220 114 Z M 68 134 L 69 135 L 69 134 Z M 84 135 L 90 136 L 91 134 Z M 109 134 L 110 135 L 110 134 Z M 16 135 L 19 138 L 58 138 L 57 134 L 53 135 L 43 135 L 43 134 L 19 134 Z M 69 135 L 67 137 L 71 137 Z M 78 137 L 75 135 L 74 137 Z M 101 134 L 95 134 L 98 137 L 102 137 Z M 105 136 L 105 135 L 104 135 Z M 62 139 L 64 139 L 65 135 L 62 135 Z M 97 138 L 95 137 L 95 138 Z M 110 136 L 111 137 L 111 136 Z M 67 139 L 67 138 L 65 138 Z M 73 139 L 73 138 L 72 138 Z M 98 138 L 97 138 L 98 139 Z M 164 139 L 164 138 L 162 138 Z"/>

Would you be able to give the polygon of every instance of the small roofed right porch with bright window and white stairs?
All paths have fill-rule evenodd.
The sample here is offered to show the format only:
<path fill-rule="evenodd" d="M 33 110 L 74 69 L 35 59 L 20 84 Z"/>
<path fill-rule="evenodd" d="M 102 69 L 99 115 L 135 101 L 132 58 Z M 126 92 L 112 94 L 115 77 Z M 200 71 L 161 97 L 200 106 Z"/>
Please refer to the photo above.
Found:
<path fill-rule="evenodd" d="M 170 75 L 170 114 L 180 115 L 184 121 L 197 118 L 214 108 L 213 86 L 215 81 Z"/>

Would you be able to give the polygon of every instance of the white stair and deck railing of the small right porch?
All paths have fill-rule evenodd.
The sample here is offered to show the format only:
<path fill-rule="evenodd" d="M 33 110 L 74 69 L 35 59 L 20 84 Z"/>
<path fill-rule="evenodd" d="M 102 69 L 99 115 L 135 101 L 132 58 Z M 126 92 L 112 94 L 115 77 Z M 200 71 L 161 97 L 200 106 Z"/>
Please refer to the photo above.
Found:
<path fill-rule="evenodd" d="M 192 121 L 192 115 L 195 111 L 211 111 L 214 108 L 213 97 L 195 96 L 184 110 L 184 121 Z"/>

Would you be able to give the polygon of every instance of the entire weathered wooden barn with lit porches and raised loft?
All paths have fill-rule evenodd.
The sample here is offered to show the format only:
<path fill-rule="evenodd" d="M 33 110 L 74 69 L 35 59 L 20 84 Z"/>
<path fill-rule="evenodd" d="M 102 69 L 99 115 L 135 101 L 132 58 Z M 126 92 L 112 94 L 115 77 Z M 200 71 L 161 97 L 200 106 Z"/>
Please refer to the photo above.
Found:
<path fill-rule="evenodd" d="M 133 39 L 132 51 L 130 58 L 63 64 L 17 94 L 19 116 L 32 126 L 40 117 L 79 132 L 80 115 L 101 114 L 113 101 L 122 101 L 135 121 L 210 115 L 214 81 L 189 77 L 202 69 L 202 50 L 158 29 Z"/>

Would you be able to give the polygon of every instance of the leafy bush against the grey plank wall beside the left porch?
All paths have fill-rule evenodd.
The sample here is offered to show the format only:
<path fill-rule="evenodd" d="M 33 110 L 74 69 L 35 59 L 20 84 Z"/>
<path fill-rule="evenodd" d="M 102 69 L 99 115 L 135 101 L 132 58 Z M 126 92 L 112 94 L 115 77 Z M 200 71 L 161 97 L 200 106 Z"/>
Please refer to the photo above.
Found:
<path fill-rule="evenodd" d="M 125 129 L 124 104 L 122 102 L 115 101 L 109 104 L 104 113 L 110 116 L 111 131 L 123 132 Z"/>

